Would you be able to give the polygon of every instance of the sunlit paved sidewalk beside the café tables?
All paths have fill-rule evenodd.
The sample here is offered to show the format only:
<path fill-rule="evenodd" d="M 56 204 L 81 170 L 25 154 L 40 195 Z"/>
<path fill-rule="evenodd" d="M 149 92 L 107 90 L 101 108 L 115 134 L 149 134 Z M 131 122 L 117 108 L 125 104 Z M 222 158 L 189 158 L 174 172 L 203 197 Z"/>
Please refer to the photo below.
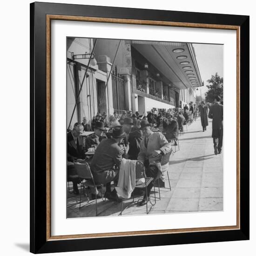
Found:
<path fill-rule="evenodd" d="M 168 169 L 172 190 L 166 177 L 165 188 L 160 188 L 161 200 L 156 188 L 156 204 L 148 203 L 149 214 L 223 209 L 222 154 L 214 155 L 211 125 L 209 120 L 207 131 L 202 132 L 201 121 L 197 119 L 188 126 L 188 131 L 184 127 L 185 134 L 179 137 L 180 150 L 170 159 Z M 80 196 L 67 192 L 67 197 L 67 218 L 95 216 L 95 200 L 85 202 L 82 195 L 83 207 L 79 209 Z M 151 198 L 153 202 L 154 193 L 151 193 Z M 99 199 L 97 205 L 98 216 L 120 215 L 121 203 Z M 132 199 L 123 202 L 122 215 L 141 214 L 146 214 L 146 206 L 137 207 Z"/>

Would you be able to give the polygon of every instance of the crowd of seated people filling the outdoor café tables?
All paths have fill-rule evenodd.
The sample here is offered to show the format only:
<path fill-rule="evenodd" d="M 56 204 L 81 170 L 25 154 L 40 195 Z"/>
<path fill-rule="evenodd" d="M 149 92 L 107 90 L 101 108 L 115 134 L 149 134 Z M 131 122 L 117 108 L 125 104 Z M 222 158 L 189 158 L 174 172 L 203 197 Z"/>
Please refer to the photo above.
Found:
<path fill-rule="evenodd" d="M 144 115 L 123 111 L 121 115 L 114 112 L 109 117 L 103 112 L 93 118 L 91 126 L 86 117 L 82 123 L 75 123 L 67 133 L 67 181 L 73 182 L 74 194 L 79 194 L 77 184 L 81 182 L 76 175 L 74 162 L 84 160 L 89 148 L 95 149 L 89 161 L 94 181 L 106 186 L 104 197 L 108 200 L 120 200 L 115 189 L 111 191 L 110 183 L 118 181 L 122 158 L 143 162 L 148 177 L 156 179 L 163 175 L 161 166 L 155 162 L 172 150 L 171 141 L 177 145 L 178 132 L 179 129 L 183 131 L 187 111 L 187 108 L 167 111 L 152 109 Z M 81 136 L 83 131 L 93 132 L 86 137 L 85 143 Z M 152 187 L 151 182 L 148 195 L 144 195 L 141 205 L 146 202 Z M 92 191 L 92 198 L 97 196 L 101 196 L 99 191 Z"/>

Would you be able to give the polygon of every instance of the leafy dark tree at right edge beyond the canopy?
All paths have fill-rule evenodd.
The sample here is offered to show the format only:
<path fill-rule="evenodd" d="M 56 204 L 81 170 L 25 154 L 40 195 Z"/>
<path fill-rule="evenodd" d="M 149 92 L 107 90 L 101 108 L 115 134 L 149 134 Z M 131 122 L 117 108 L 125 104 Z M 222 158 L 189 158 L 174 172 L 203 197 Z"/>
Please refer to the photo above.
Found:
<path fill-rule="evenodd" d="M 218 95 L 223 98 L 223 77 L 220 77 L 218 73 L 212 75 L 211 79 L 207 80 L 209 85 L 207 85 L 208 92 L 206 92 L 205 100 L 212 103 L 214 98 Z"/>

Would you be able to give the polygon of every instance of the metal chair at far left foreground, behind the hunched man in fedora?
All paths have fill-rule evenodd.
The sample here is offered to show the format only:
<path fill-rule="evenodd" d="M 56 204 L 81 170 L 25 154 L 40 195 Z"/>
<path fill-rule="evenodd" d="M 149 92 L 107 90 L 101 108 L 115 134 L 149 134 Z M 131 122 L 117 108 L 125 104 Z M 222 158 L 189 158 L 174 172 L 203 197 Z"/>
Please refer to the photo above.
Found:
<path fill-rule="evenodd" d="M 76 168 L 76 172 L 77 172 L 78 177 L 82 179 L 81 187 L 83 189 L 83 192 L 84 192 L 83 194 L 84 195 L 86 195 L 85 190 L 87 190 L 88 202 L 89 202 L 88 187 L 93 187 L 94 191 L 97 190 L 97 187 L 101 187 L 101 199 L 103 200 L 103 198 L 102 198 L 102 184 L 96 184 L 94 182 L 94 177 L 93 177 L 93 174 L 91 172 L 91 168 L 90 168 L 88 162 L 83 162 L 83 163 L 74 162 L 74 166 Z M 84 180 L 85 180 L 85 182 L 84 182 Z M 96 216 L 98 216 L 97 195 L 95 196 L 95 207 L 96 207 Z M 80 193 L 79 209 L 81 209 L 81 193 Z"/>

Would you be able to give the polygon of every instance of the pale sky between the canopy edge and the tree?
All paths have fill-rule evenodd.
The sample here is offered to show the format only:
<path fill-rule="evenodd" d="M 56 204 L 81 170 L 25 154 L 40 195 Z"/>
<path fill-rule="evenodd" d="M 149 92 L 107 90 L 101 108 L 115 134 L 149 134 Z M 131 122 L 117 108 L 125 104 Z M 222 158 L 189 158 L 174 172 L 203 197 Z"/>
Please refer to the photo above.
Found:
<path fill-rule="evenodd" d="M 214 44 L 193 44 L 195 49 L 196 61 L 199 67 L 204 87 L 201 88 L 202 94 L 208 91 L 206 85 L 211 75 L 218 73 L 223 77 L 223 45 Z M 200 90 L 197 91 L 200 95 Z"/>

